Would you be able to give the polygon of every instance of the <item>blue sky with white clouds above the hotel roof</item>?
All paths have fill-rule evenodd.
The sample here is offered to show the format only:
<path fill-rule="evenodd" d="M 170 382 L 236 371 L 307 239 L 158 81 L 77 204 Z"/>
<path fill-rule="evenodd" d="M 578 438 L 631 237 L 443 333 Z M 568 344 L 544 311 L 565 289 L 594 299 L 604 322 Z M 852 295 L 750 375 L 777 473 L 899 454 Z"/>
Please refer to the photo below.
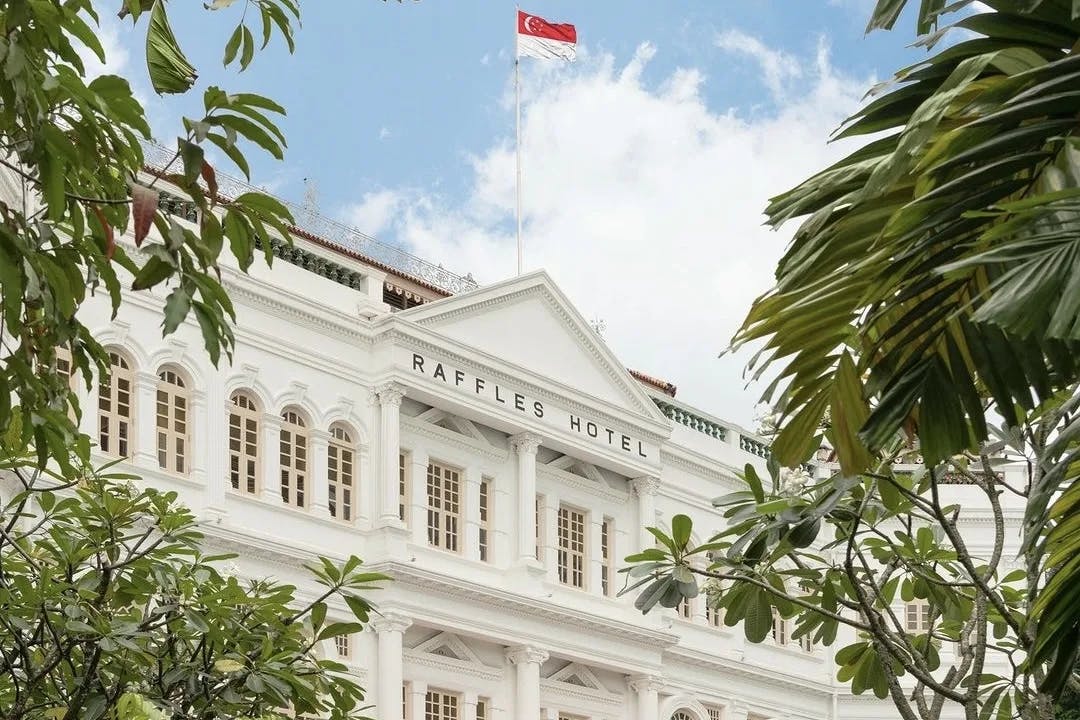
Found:
<path fill-rule="evenodd" d="M 853 149 L 829 134 L 922 56 L 913 23 L 864 35 L 872 0 L 522 1 L 579 41 L 573 64 L 522 60 L 526 269 L 545 269 L 629 367 L 753 426 L 764 383 L 746 385 L 747 352 L 718 355 L 794 230 L 764 227 L 762 209 Z M 153 95 L 146 17 L 119 23 L 120 2 L 98 3 L 99 70 L 133 80 L 167 141 L 201 94 Z M 513 276 L 514 3 L 301 0 L 294 55 L 274 40 L 226 71 L 244 4 L 170 8 L 199 89 L 288 110 L 285 160 L 252 149 L 253 181 L 482 284 Z"/>

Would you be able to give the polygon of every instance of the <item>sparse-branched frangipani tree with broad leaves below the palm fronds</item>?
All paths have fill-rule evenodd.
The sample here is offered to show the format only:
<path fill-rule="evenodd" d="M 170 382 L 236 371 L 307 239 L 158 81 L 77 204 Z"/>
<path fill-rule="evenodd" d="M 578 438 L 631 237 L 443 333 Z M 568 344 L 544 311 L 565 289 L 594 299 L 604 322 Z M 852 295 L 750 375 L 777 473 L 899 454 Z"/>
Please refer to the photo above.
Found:
<path fill-rule="evenodd" d="M 713 501 L 727 527 L 697 546 L 685 515 L 670 533 L 651 528 L 658 545 L 626 558 L 623 592 L 640 590 L 636 606 L 648 612 L 699 595 L 701 583 L 752 642 L 768 638 L 775 616 L 791 619 L 795 640 L 842 642 L 837 680 L 891 698 L 905 720 L 935 720 L 951 704 L 969 718 L 1051 717 L 1038 689 L 1047 668 L 1025 663 L 1037 570 L 1002 566 L 1002 497 L 1024 500 L 1030 481 L 1008 484 L 985 453 L 934 467 L 914 454 L 897 439 L 862 476 L 813 478 L 770 463 L 765 481 L 746 465 L 746 489 Z M 960 499 L 989 511 L 985 557 L 958 525 Z M 917 600 L 929 625 L 913 630 L 904 603 Z"/>

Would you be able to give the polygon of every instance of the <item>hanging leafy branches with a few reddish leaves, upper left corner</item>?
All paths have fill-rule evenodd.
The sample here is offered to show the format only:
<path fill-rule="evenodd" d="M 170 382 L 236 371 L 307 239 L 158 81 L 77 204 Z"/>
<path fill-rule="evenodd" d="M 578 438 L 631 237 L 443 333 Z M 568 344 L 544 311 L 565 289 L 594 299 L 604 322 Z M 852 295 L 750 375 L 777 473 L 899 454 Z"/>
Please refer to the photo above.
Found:
<path fill-rule="evenodd" d="M 207 9 L 230 4 L 215 0 Z M 296 0 L 241 4 L 252 12 L 241 16 L 226 47 L 226 65 L 247 67 L 256 46 L 266 46 L 275 33 L 292 49 Z M 147 70 L 154 90 L 189 92 L 195 72 L 170 27 L 165 0 L 125 0 L 121 16 L 127 15 L 148 21 Z M 246 17 L 260 21 L 260 42 Z M 246 175 L 245 144 L 282 157 L 285 138 L 274 118 L 284 109 L 259 95 L 205 89 L 204 114 L 184 119 L 172 161 L 148 181 L 136 179 L 145 169 L 141 142 L 149 140 L 150 127 L 126 79 L 87 78 L 79 49 L 106 59 L 96 24 L 92 0 L 0 5 L 0 164 L 25 189 L 24 202 L 0 206 L 0 419 L 6 427 L 18 416 L 23 436 L 16 449 L 35 447 L 40 465 L 52 454 L 66 473 L 73 470 L 67 464 L 73 395 L 49 369 L 60 351 L 70 354 L 87 383 L 92 368 L 107 371 L 100 345 L 76 312 L 87 293 L 107 291 L 116 312 L 125 273 L 134 276 L 133 289 L 171 282 L 163 332 L 193 315 L 217 363 L 233 345 L 234 313 L 218 264 L 222 248 L 228 245 L 246 269 L 257 239 L 271 229 L 287 239 L 292 222 L 288 210 L 269 195 L 219 196 L 215 168 L 205 160 L 212 145 Z M 200 209 L 198 226 L 158 208 L 163 182 Z M 138 246 L 134 253 L 116 239 L 129 226 Z M 269 243 L 262 249 L 269 261 Z"/>

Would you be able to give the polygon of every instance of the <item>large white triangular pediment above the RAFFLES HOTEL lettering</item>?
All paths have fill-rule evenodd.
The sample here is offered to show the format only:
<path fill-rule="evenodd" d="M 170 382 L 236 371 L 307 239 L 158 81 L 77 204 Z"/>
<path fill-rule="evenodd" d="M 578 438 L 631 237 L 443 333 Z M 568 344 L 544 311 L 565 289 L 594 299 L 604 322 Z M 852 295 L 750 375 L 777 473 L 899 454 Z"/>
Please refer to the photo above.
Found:
<path fill-rule="evenodd" d="M 397 316 L 582 394 L 663 421 L 656 404 L 543 271 Z"/>

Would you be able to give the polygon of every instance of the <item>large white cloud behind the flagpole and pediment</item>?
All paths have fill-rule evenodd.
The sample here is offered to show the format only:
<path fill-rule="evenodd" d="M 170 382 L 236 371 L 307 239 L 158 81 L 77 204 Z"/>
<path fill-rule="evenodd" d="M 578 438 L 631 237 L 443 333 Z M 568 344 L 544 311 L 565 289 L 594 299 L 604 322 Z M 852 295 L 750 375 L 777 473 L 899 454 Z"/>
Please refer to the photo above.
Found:
<path fill-rule="evenodd" d="M 869 80 L 838 74 L 822 47 L 812 62 L 729 33 L 766 82 L 801 67 L 785 101 L 708 107 L 697 68 L 654 86 L 643 44 L 624 66 L 583 55 L 523 80 L 526 268 L 545 268 L 630 367 L 675 382 L 679 397 L 750 424 L 761 391 L 743 390 L 746 357 L 717 354 L 754 297 L 768 289 L 791 229 L 762 227 L 768 199 L 849 148 L 825 138 Z M 798 63 L 798 65 L 793 65 Z M 514 148 L 502 139 L 471 159 L 463 203 L 431 191 L 365 195 L 350 219 L 481 282 L 515 268 Z"/>

